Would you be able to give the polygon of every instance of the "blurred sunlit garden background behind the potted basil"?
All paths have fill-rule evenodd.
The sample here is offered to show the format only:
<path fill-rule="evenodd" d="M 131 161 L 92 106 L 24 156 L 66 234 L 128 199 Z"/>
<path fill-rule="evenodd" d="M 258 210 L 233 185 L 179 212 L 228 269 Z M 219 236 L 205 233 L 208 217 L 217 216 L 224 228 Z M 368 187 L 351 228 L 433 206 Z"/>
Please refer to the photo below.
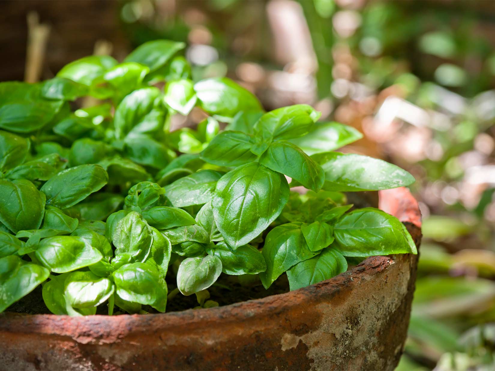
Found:
<path fill-rule="evenodd" d="M 495 368 L 492 1 L 85 0 L 4 7 L 1 80 L 50 78 L 87 54 L 121 59 L 165 38 L 187 43 L 194 80 L 229 76 L 267 110 L 308 103 L 322 120 L 360 130 L 364 138 L 345 150 L 413 173 L 423 213 L 409 338 L 397 370 Z M 193 110 L 187 120 L 172 121 L 180 128 L 176 146 L 201 150 L 207 130 L 191 128 L 203 118 Z"/>

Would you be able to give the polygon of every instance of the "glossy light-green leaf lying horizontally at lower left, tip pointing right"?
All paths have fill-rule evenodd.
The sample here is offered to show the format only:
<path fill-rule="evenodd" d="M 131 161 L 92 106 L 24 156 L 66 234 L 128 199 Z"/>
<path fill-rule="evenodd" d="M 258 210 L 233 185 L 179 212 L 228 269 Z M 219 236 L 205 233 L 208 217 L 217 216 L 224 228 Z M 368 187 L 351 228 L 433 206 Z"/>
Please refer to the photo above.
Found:
<path fill-rule="evenodd" d="M 74 236 L 44 238 L 35 251 L 36 258 L 51 272 L 65 273 L 99 262 L 101 253 Z"/>

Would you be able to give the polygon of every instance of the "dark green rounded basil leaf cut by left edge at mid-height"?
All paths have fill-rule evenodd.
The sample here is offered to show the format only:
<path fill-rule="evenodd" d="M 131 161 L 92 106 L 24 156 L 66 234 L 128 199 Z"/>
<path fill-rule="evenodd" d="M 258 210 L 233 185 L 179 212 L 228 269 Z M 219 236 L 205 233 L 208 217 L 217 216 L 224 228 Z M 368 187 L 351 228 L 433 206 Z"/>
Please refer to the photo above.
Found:
<path fill-rule="evenodd" d="M 40 228 L 45 201 L 45 194 L 30 181 L 0 179 L 0 222 L 12 232 Z"/>

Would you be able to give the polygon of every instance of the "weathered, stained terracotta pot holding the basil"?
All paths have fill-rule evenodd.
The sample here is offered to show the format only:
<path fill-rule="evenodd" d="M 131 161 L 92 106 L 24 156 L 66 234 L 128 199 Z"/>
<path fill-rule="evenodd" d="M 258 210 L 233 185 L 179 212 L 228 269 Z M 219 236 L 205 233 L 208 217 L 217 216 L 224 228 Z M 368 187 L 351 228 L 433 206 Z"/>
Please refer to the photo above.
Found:
<path fill-rule="evenodd" d="M 380 192 L 416 245 L 405 188 Z M 219 308 L 155 315 L 0 315 L 1 370 L 393 370 L 417 255 L 371 257 L 332 279 Z"/>

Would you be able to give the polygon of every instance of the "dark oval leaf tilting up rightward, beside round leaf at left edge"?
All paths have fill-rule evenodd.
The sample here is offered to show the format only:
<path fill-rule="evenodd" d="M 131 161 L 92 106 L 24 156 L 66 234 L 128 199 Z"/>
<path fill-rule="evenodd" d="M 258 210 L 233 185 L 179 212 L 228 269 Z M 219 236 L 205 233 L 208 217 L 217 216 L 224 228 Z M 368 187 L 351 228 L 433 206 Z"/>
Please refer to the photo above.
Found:
<path fill-rule="evenodd" d="M 101 166 L 79 165 L 50 178 L 41 191 L 48 197 L 47 204 L 63 209 L 84 200 L 107 182 L 108 174 Z"/>

